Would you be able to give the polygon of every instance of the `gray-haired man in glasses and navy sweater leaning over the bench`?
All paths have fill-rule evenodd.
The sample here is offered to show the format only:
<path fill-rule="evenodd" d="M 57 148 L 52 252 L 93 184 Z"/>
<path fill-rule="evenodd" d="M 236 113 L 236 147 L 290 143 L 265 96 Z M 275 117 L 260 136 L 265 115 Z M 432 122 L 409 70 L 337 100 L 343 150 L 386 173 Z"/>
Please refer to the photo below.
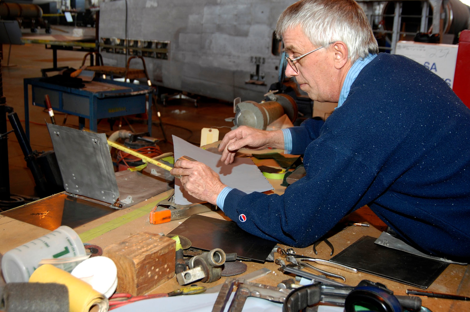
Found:
<path fill-rule="evenodd" d="M 470 110 L 424 66 L 378 53 L 353 0 L 300 0 L 279 17 L 276 34 L 286 76 L 337 109 L 325 122 L 289 129 L 238 127 L 219 151 L 230 164 L 242 147 L 283 148 L 304 155 L 306 176 L 283 195 L 245 194 L 204 164 L 179 160 L 172 174 L 188 193 L 217 203 L 251 234 L 297 247 L 368 205 L 416 248 L 470 258 Z"/>

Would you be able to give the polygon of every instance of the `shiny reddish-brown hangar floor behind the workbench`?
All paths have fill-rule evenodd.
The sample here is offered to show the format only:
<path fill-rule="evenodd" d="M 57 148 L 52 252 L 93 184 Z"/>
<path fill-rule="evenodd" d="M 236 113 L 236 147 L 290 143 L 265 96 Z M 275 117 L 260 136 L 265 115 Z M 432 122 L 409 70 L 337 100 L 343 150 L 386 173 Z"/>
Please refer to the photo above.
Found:
<path fill-rule="evenodd" d="M 44 30 L 39 30 L 39 34 L 41 34 L 41 31 L 44 32 Z M 42 35 L 44 35 L 44 33 Z M 22 120 L 24 127 L 23 79 L 41 77 L 41 68 L 52 67 L 52 50 L 46 49 L 44 45 L 40 44 L 12 46 L 9 64 L 15 64 L 16 66 L 4 67 L 8 60 L 8 48 L 8 45 L 3 46 L 3 93 L 6 97 L 7 105 L 13 107 L 18 117 Z M 84 55 L 84 52 L 59 50 L 57 52 L 57 66 L 69 66 L 78 69 Z M 55 73 L 51 74 L 54 75 Z M 49 76 L 51 74 L 49 74 Z M 168 102 L 166 107 L 159 103 L 158 109 L 160 110 L 164 130 L 169 142 L 160 142 L 158 146 L 163 152 L 172 152 L 172 135 L 176 135 L 199 146 L 201 129 L 203 127 L 223 127 L 219 128 L 219 138 L 221 139 L 223 135 L 230 130 L 229 127 L 233 126 L 233 123 L 224 121 L 225 118 L 234 116 L 232 105 L 233 104 L 229 102 L 208 98 L 200 98 L 197 108 L 194 106 L 193 102 L 187 100 L 172 100 Z M 53 149 L 46 127 L 46 122 L 50 122 L 50 117 L 43 108 L 31 105 L 31 90 L 29 109 L 31 148 L 38 151 Z M 62 124 L 63 116 L 62 113 L 55 112 L 57 124 Z M 5 117 L 0 116 L 0 118 Z M 139 123 L 139 120 L 134 119 L 132 116 L 129 118 L 135 131 L 147 131 L 146 124 Z M 133 119 L 135 121 L 133 121 Z M 153 108 L 153 119 L 158 120 L 155 108 Z M 78 117 L 69 116 L 66 126 L 78 128 Z M 86 120 L 86 127 L 88 127 L 88 120 Z M 125 122 L 123 122 L 122 129 L 130 130 Z M 11 130 L 9 123 L 8 130 Z M 118 122 L 114 125 L 113 130 L 118 130 Z M 110 124 L 107 120 L 102 120 L 101 123 L 98 124 L 99 133 L 110 135 L 114 132 L 113 130 L 110 129 Z M 159 126 L 153 125 L 152 136 L 163 139 L 163 133 Z M 3 153 L 4 151 L 1 152 Z M 28 196 L 37 195 L 34 190 L 34 179 L 26 166 L 23 152 L 13 133 L 8 135 L 8 162 L 10 192 Z M 0 179 L 4 178 L 5 177 L 0 177 Z"/>

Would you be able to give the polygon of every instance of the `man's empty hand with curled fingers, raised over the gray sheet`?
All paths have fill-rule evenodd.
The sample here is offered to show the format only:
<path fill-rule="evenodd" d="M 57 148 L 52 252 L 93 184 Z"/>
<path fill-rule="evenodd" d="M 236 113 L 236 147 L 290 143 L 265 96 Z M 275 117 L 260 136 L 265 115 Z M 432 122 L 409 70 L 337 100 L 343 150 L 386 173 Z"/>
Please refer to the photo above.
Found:
<path fill-rule="evenodd" d="M 233 163 L 236 151 L 243 147 L 253 150 L 284 149 L 284 134 L 281 130 L 265 131 L 242 125 L 227 133 L 222 139 L 219 145 L 219 152 L 222 152 L 220 160 L 225 164 Z"/>

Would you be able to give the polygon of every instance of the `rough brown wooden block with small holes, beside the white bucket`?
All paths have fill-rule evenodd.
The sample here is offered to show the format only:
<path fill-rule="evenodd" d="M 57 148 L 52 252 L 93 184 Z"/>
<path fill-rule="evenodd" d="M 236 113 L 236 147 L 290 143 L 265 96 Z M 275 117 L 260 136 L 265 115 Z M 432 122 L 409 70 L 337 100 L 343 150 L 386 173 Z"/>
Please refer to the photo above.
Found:
<path fill-rule="evenodd" d="M 118 267 L 118 293 L 140 296 L 170 280 L 175 274 L 176 242 L 141 232 L 105 248 Z"/>

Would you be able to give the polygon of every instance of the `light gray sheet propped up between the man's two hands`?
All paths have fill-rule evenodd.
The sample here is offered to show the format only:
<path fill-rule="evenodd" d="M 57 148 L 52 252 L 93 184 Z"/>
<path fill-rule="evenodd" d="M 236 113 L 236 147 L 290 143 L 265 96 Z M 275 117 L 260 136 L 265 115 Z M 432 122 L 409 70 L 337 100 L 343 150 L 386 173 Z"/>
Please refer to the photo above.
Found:
<path fill-rule="evenodd" d="M 226 165 L 220 161 L 220 155 L 208 152 L 174 135 L 173 146 L 175 159 L 189 156 L 208 165 L 219 174 L 220 180 L 229 187 L 237 188 L 248 194 L 273 189 L 250 158 L 235 157 L 232 164 Z M 199 199 L 189 195 L 183 189 L 180 179 L 175 179 L 175 203 L 187 205 L 200 202 Z"/>

